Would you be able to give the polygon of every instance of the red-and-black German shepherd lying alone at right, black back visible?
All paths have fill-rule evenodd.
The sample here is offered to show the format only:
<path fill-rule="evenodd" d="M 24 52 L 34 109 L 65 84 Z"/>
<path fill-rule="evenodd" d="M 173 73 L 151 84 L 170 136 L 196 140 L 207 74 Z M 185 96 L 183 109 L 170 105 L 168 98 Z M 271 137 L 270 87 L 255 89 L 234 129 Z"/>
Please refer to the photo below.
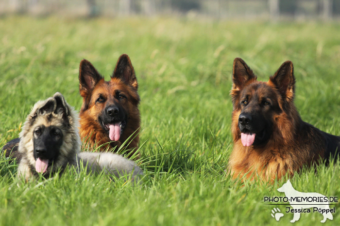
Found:
<path fill-rule="evenodd" d="M 233 178 L 272 181 L 305 166 L 339 157 L 340 137 L 302 121 L 294 105 L 293 63 L 284 62 L 268 82 L 240 58 L 234 60 L 232 135 L 228 169 Z"/>

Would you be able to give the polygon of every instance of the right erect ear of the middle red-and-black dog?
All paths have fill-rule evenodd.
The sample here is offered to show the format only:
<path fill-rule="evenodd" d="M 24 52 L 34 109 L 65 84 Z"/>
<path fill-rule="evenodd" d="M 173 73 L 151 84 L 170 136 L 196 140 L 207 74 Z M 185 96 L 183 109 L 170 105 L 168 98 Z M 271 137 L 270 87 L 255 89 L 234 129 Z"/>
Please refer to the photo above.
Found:
<path fill-rule="evenodd" d="M 136 90 L 138 89 L 134 67 L 132 66 L 129 56 L 126 54 L 119 57 L 111 78 L 120 78 L 126 84 L 131 85 Z"/>

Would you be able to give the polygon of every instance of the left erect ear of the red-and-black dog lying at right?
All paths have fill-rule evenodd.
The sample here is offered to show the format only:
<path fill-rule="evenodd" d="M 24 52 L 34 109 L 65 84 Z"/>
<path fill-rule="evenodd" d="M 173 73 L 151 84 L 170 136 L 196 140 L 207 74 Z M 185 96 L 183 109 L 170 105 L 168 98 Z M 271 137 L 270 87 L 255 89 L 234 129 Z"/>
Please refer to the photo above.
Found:
<path fill-rule="evenodd" d="M 233 66 L 233 89 L 242 90 L 251 80 L 256 80 L 252 69 L 241 59 L 235 58 Z"/>

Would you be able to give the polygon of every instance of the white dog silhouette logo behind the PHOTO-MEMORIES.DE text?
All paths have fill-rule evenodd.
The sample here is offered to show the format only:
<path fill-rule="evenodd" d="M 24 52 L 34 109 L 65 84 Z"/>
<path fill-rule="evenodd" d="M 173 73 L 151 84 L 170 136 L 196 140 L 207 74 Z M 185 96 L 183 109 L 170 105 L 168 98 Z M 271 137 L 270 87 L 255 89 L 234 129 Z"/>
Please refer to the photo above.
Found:
<path fill-rule="evenodd" d="M 303 209 L 313 208 L 317 209 L 318 212 L 323 214 L 323 220 L 321 223 L 324 223 L 327 218 L 329 220 L 333 220 L 333 215 L 331 210 L 329 209 L 329 202 L 324 201 L 327 200 L 326 196 L 323 196 L 316 192 L 299 192 L 296 191 L 288 180 L 287 183 L 282 185 L 282 187 L 278 188 L 277 191 L 284 192 L 286 197 L 289 200 L 289 204 L 292 206 L 291 212 L 294 212 L 293 220 L 290 222 L 293 223 L 300 219 L 300 213 L 305 212 Z M 310 200 L 310 201 L 308 201 Z"/>

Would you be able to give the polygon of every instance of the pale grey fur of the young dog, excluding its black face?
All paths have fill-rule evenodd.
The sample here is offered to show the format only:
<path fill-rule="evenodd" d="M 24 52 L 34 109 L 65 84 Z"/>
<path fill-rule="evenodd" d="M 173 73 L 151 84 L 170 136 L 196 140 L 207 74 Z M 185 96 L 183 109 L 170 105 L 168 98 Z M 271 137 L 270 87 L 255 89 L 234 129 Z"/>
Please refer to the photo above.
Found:
<path fill-rule="evenodd" d="M 59 92 L 45 101 L 37 102 L 31 113 L 27 116 L 22 131 L 18 151 L 22 159 L 18 166 L 17 177 L 26 180 L 38 176 L 35 171 L 36 159 L 34 158 L 34 128 L 39 125 L 55 126 L 62 131 L 63 141 L 57 158 L 52 166 L 48 166 L 44 177 L 49 177 L 57 171 L 61 173 L 67 166 L 74 166 L 77 171 L 81 165 L 87 172 L 101 172 L 120 177 L 124 174 L 131 175 L 132 179 L 138 180 L 137 175 L 142 175 L 142 170 L 135 164 L 120 155 L 101 152 L 80 152 L 81 141 L 78 133 L 77 114 L 70 107 L 63 95 Z"/>

